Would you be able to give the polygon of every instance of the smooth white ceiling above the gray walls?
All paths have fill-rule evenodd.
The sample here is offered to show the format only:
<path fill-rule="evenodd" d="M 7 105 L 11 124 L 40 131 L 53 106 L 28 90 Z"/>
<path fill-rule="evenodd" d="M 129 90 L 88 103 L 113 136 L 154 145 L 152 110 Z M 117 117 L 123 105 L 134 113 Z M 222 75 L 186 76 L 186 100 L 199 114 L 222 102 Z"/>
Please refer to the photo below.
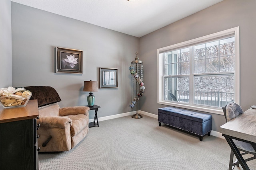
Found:
<path fill-rule="evenodd" d="M 223 0 L 11 0 L 142 37 Z"/>

